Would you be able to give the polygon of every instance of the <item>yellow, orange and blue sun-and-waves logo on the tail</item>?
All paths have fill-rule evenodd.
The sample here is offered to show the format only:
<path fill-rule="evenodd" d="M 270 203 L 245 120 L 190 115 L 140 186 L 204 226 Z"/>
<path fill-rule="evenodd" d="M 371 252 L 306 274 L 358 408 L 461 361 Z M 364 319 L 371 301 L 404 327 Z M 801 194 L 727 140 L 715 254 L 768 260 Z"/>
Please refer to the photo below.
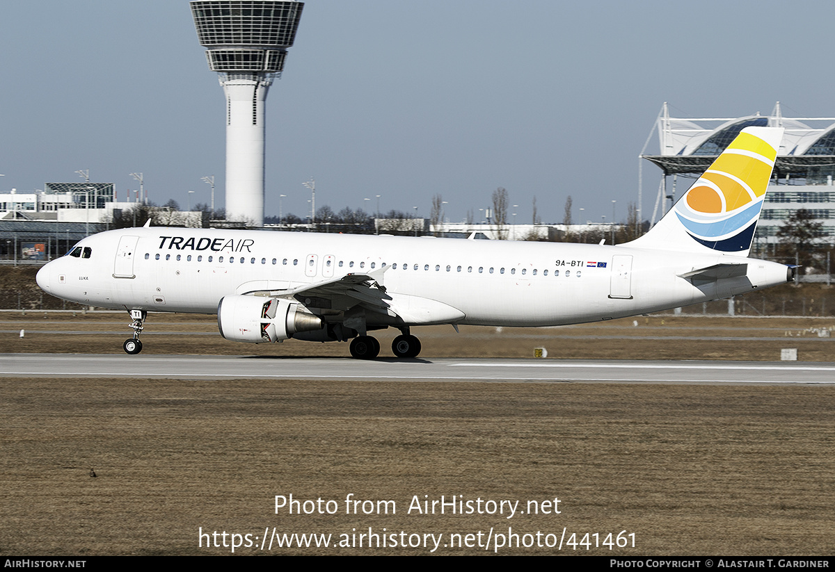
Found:
<path fill-rule="evenodd" d="M 777 149 L 740 133 L 673 210 L 696 242 L 726 252 L 749 248 Z"/>

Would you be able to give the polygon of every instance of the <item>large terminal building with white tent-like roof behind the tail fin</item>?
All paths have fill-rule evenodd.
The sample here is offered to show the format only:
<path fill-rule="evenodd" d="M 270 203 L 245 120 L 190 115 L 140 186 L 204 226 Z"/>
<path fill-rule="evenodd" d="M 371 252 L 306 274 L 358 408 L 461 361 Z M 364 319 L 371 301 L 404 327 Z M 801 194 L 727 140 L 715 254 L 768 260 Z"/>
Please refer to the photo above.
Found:
<path fill-rule="evenodd" d="M 835 243 L 835 118 L 786 118 L 779 102 L 770 115 L 696 119 L 673 118 L 664 103 L 655 124 L 660 154 L 641 154 L 661 169 L 650 222 L 671 208 L 743 128 L 754 126 L 785 128 L 755 248 L 779 242 L 777 230 L 800 209 L 812 212 L 823 224 L 821 242 Z"/>

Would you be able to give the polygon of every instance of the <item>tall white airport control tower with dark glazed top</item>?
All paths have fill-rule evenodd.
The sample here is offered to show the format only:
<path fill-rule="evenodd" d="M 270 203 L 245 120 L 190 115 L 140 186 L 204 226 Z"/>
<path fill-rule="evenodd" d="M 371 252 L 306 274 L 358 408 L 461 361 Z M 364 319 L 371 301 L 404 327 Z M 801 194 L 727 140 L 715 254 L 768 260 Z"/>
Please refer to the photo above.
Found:
<path fill-rule="evenodd" d="M 301 2 L 195 0 L 197 37 L 226 94 L 226 219 L 264 224 L 264 104 L 281 76 Z"/>

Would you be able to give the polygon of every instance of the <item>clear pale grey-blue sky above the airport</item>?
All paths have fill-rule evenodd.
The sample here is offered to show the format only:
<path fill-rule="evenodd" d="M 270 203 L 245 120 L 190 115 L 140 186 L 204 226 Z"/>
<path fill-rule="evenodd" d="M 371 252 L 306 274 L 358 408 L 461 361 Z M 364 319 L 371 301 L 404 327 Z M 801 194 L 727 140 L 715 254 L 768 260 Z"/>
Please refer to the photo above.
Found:
<path fill-rule="evenodd" d="M 3 190 L 114 182 L 209 202 L 224 99 L 186 0 L 0 1 Z M 689 117 L 835 116 L 835 3 L 309 0 L 267 98 L 266 214 L 317 205 L 450 220 L 510 193 L 518 222 L 617 218 L 661 103 Z M 653 146 L 655 147 L 655 139 Z M 652 150 L 655 150 L 655 148 Z M 644 212 L 658 170 L 645 165 Z M 371 203 L 363 198 L 372 198 Z"/>

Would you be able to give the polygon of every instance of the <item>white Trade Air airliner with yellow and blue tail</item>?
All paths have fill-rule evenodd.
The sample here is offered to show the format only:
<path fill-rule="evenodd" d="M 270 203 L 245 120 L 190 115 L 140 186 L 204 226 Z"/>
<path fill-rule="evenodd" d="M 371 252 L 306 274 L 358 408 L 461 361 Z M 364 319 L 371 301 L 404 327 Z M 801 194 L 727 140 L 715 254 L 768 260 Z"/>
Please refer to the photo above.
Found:
<path fill-rule="evenodd" d="M 412 326 L 554 326 L 623 318 L 791 282 L 746 258 L 782 128 L 746 128 L 654 228 L 635 241 L 530 243 L 258 230 L 127 228 L 80 241 L 38 272 L 49 294 L 126 309 L 139 354 L 148 312 L 217 314 L 225 339 L 352 339 Z"/>

